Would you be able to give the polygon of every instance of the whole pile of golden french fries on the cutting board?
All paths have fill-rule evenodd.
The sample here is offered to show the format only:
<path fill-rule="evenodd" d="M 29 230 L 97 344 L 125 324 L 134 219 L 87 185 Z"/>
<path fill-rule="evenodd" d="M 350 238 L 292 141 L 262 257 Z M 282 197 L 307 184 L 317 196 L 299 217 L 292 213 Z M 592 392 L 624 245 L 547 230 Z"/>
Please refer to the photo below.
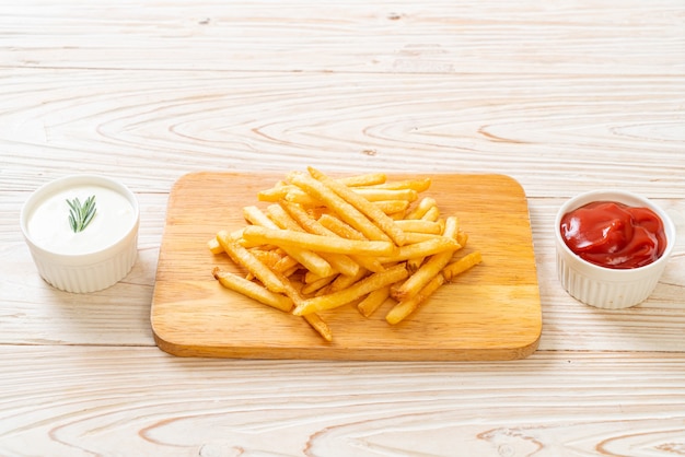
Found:
<path fill-rule="evenodd" d="M 225 288 L 301 316 L 332 341 L 322 312 L 356 306 L 370 317 L 385 302 L 396 325 L 441 285 L 481 261 L 458 257 L 467 242 L 458 219 L 422 197 L 430 178 L 388 181 L 385 174 L 332 178 L 318 169 L 291 172 L 258 192 L 266 208 L 243 208 L 241 230 L 209 241 L 244 274 L 213 269 Z"/>

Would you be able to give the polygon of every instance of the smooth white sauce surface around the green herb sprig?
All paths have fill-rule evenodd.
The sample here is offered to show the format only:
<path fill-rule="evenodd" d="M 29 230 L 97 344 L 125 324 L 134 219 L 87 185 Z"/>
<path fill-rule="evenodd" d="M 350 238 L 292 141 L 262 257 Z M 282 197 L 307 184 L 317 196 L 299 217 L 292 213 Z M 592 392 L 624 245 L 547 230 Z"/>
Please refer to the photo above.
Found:
<path fill-rule="evenodd" d="M 74 233 L 69 224 L 67 200 L 78 198 L 83 204 L 95 196 L 97 210 L 83 232 Z M 102 186 L 79 186 L 44 199 L 28 214 L 26 228 L 33 242 L 57 254 L 86 254 L 101 250 L 121 239 L 135 223 L 131 203 L 117 191 Z"/>

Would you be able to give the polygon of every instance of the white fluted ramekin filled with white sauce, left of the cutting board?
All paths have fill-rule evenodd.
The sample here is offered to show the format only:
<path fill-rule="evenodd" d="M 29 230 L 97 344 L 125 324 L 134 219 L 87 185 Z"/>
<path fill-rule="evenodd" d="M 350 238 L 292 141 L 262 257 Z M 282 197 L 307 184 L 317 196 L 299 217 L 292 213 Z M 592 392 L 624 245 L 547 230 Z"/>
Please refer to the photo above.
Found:
<path fill-rule="evenodd" d="M 83 202 L 96 195 L 91 224 L 74 234 L 66 198 Z M 72 175 L 35 190 L 24 203 L 20 224 L 40 277 L 67 292 L 95 292 L 128 274 L 138 257 L 139 207 L 117 180 Z"/>

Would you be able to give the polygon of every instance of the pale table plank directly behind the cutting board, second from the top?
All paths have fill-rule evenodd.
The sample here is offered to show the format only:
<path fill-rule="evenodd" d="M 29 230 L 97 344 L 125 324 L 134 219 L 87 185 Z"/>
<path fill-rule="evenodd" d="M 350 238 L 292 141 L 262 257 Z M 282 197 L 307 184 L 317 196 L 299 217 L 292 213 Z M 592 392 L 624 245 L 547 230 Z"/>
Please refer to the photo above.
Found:
<path fill-rule="evenodd" d="M 194 171 L 314 165 L 502 173 L 530 197 L 597 187 L 685 195 L 680 77 L 0 70 L 0 78 L 8 190 L 106 169 L 137 190 L 167 192 Z"/>

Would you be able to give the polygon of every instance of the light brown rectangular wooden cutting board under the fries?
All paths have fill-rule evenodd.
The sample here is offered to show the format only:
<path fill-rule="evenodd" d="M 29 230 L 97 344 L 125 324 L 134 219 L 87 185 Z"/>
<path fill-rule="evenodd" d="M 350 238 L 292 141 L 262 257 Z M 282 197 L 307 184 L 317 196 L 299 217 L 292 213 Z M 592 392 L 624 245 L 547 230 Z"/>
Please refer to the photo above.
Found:
<path fill-rule="evenodd" d="M 334 335 L 326 342 L 301 317 L 229 291 L 211 274 L 216 266 L 239 270 L 227 256 L 212 255 L 207 241 L 219 230 L 243 227 L 242 208 L 266 207 L 257 191 L 283 176 L 193 173 L 174 185 L 151 307 L 162 350 L 181 356 L 375 361 L 514 360 L 535 351 L 539 290 L 527 201 L 515 180 L 431 176 L 422 196 L 436 198 L 442 214 L 458 216 L 469 235 L 464 254 L 479 250 L 483 262 L 396 326 L 385 321 L 387 306 L 370 318 L 352 306 L 323 313 Z"/>

